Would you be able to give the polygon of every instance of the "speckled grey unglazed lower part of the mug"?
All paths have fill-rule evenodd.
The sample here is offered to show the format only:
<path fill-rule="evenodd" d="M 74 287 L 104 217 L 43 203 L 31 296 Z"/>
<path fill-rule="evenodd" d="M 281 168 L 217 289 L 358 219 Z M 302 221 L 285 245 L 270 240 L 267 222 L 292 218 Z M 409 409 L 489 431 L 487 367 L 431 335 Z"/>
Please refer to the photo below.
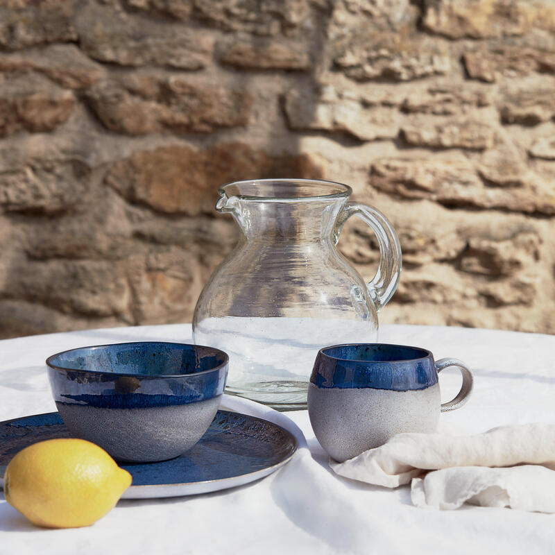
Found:
<path fill-rule="evenodd" d="M 318 388 L 309 384 L 309 417 L 320 445 L 336 461 L 352 459 L 402 432 L 435 432 L 439 384 L 412 391 Z"/>

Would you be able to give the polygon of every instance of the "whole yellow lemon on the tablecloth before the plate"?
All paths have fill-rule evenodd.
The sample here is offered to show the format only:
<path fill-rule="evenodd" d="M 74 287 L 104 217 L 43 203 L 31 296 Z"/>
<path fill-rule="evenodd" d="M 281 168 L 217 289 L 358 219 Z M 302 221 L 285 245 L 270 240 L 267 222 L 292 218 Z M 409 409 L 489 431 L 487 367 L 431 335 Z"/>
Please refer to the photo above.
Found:
<path fill-rule="evenodd" d="M 114 508 L 131 475 L 98 445 L 50 439 L 15 455 L 4 475 L 4 496 L 33 524 L 90 526 Z"/>

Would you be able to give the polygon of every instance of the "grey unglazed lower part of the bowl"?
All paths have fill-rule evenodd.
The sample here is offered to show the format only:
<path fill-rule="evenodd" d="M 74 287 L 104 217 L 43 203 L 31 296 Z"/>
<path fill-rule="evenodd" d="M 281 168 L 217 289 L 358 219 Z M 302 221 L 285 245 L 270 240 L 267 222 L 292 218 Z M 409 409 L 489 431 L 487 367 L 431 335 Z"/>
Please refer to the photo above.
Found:
<path fill-rule="evenodd" d="M 166 461 L 190 449 L 214 420 L 221 395 L 170 407 L 105 409 L 56 402 L 69 432 L 121 462 Z"/>

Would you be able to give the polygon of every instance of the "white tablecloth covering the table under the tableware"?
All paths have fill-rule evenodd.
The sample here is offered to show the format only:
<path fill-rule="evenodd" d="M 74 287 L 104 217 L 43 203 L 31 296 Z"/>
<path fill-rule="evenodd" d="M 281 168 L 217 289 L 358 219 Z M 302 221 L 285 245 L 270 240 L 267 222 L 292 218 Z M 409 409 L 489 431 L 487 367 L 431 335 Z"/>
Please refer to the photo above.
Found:
<path fill-rule="evenodd" d="M 191 326 L 90 330 L 0 341 L 0 420 L 56 410 L 44 359 L 83 345 L 162 339 L 190 341 Z M 475 373 L 463 409 L 445 413 L 468 432 L 555 422 L 555 336 L 456 327 L 384 325 L 380 341 L 456 357 Z M 452 374 L 447 375 L 448 372 Z M 456 370 L 440 378 L 442 397 Z M 285 413 L 302 429 L 301 448 L 280 471 L 209 495 L 121 501 L 94 526 L 42 530 L 0 494 L 0 554 L 553 554 L 555 515 L 463 506 L 425 511 L 407 486 L 387 490 L 332 474 L 307 411 Z M 555 495 L 555 491 L 553 493 Z"/>

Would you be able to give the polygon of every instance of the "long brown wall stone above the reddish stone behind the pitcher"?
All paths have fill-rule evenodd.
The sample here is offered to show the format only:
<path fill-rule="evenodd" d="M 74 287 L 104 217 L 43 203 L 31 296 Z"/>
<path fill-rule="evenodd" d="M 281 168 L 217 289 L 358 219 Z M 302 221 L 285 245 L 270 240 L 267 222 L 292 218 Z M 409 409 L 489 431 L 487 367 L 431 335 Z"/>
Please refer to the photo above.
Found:
<path fill-rule="evenodd" d="M 250 105 L 250 96 L 239 88 L 200 85 L 179 75 L 103 80 L 89 89 L 87 99 L 108 129 L 128 135 L 244 126 Z"/>

